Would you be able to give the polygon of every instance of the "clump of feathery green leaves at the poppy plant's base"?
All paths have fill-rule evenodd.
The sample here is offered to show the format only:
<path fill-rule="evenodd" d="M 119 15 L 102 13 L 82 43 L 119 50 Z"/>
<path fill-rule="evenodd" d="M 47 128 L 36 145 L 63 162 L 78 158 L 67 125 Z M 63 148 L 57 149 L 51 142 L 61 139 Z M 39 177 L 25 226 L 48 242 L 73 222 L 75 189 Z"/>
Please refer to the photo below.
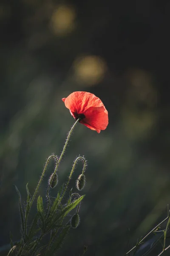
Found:
<path fill-rule="evenodd" d="M 11 238 L 11 248 L 9 255 L 34 255 L 37 253 L 47 253 L 47 255 L 54 255 L 57 250 L 62 246 L 62 243 L 68 234 L 71 225 L 64 224 L 65 217 L 71 210 L 73 210 L 82 201 L 84 195 L 74 200 L 68 201 L 65 206 L 61 207 L 59 203 L 62 198 L 63 186 L 57 193 L 57 198 L 54 199 L 53 204 L 50 207 L 50 213 L 45 214 L 43 207 L 43 200 L 41 195 L 37 198 L 37 213 L 34 216 L 31 225 L 27 227 L 27 235 L 24 238 L 22 234 L 19 243 L 14 244 Z M 17 192 L 19 193 L 18 189 Z M 20 194 L 19 194 L 20 195 Z M 27 197 L 27 203 L 30 197 Z M 21 200 L 20 200 L 21 201 Z M 22 209 L 22 208 L 21 208 Z M 21 211 L 22 212 L 22 211 Z M 22 219 L 22 227 L 25 226 L 25 218 Z M 51 236 L 50 236 L 51 233 Z M 43 238 L 45 239 L 45 244 Z M 48 238 L 48 239 L 47 239 Z M 42 244 L 43 243 L 43 244 Z M 15 250 L 14 250 L 15 249 Z"/>

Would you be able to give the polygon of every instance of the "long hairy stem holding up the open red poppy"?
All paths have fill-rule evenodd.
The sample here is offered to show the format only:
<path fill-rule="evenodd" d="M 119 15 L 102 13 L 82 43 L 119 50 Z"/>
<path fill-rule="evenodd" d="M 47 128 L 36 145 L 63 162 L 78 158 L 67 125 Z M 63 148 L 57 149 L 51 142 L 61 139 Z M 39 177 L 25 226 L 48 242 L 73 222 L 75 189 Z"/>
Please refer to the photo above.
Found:
<path fill-rule="evenodd" d="M 74 125 L 71 127 L 71 130 L 70 130 L 69 133 L 68 133 L 67 139 L 66 139 L 66 141 L 65 141 L 65 145 L 64 145 L 64 147 L 63 147 L 63 149 L 62 149 L 62 153 L 61 153 L 61 155 L 60 155 L 60 157 L 59 157 L 59 160 L 58 160 L 58 162 L 57 162 L 57 165 L 56 165 L 56 168 L 55 168 L 55 170 L 54 170 L 53 175 L 55 175 L 55 173 L 57 172 L 59 163 L 60 163 L 60 161 L 62 160 L 63 154 L 64 154 L 64 152 L 65 152 L 65 148 L 67 147 L 68 141 L 70 140 L 72 131 L 74 130 L 74 128 L 75 128 L 75 126 L 77 125 L 77 123 L 79 122 L 79 120 L 80 120 L 80 119 L 77 119 L 77 121 L 74 123 Z M 53 176 L 53 177 L 54 177 L 54 176 Z M 48 186 L 48 189 L 47 189 L 47 198 L 48 198 L 47 215 L 48 215 L 48 213 L 49 213 L 49 208 L 50 208 L 49 190 L 50 190 L 52 181 L 53 181 L 53 179 L 51 179 L 51 182 L 50 182 L 50 184 L 49 184 L 49 186 Z"/>

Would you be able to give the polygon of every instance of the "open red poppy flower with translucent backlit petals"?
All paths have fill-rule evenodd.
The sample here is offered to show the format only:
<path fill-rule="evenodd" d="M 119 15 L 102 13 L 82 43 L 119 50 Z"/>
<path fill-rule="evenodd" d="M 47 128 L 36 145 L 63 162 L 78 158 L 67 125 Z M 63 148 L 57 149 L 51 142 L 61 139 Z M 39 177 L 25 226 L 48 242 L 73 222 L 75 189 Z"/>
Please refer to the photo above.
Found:
<path fill-rule="evenodd" d="M 108 111 L 101 99 L 92 93 L 74 92 L 63 98 L 65 107 L 70 110 L 74 119 L 98 133 L 108 126 Z"/>

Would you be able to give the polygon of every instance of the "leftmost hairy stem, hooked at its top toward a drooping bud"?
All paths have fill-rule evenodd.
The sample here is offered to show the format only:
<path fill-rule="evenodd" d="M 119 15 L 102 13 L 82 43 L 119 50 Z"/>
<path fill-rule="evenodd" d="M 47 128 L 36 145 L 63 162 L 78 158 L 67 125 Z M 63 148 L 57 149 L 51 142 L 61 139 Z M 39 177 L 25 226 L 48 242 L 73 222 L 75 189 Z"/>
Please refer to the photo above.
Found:
<path fill-rule="evenodd" d="M 51 155 L 50 157 L 48 157 L 48 159 L 47 159 L 47 161 L 46 161 L 46 163 L 45 163 L 44 170 L 43 170 L 42 175 L 41 175 L 41 177 L 40 177 L 40 180 L 39 180 L 39 182 L 38 182 L 37 188 L 35 189 L 34 195 L 33 195 L 32 199 L 31 199 L 30 206 L 29 206 L 29 211 L 30 211 L 30 209 L 31 209 L 31 206 L 32 206 L 32 204 L 33 204 L 33 201 L 34 201 L 34 199 L 35 199 L 35 196 L 36 196 L 36 194 L 37 194 L 37 192 L 38 192 L 38 189 L 39 189 L 39 187 L 40 187 L 40 184 L 41 184 L 41 182 L 42 182 L 42 179 L 43 179 L 43 177 L 44 177 L 44 175 L 45 175 L 45 172 L 46 172 L 46 169 L 47 169 L 49 160 L 50 160 L 52 157 L 55 158 L 56 161 L 58 161 L 58 160 L 57 160 L 57 157 L 56 157 L 55 155 Z M 24 231 L 25 231 L 25 239 L 26 239 L 26 235 L 27 235 L 27 219 L 28 219 L 29 211 L 26 212 L 26 214 L 25 214 L 25 230 L 24 230 Z"/>

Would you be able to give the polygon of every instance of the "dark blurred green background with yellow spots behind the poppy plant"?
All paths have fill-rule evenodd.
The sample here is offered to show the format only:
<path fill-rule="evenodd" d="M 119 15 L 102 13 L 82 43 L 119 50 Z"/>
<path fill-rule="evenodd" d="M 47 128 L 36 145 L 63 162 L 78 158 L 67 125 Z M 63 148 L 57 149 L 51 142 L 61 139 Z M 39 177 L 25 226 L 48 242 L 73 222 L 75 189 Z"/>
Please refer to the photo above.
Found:
<path fill-rule="evenodd" d="M 86 244 L 87 256 L 121 256 L 166 217 L 169 13 L 168 0 L 1 0 L 0 246 L 10 230 L 20 237 L 13 184 L 23 201 L 27 182 L 33 194 L 74 122 L 61 99 L 77 90 L 102 99 L 109 125 L 97 134 L 78 124 L 59 166 L 60 186 L 77 155 L 88 160 L 81 223 L 59 255 L 78 256 Z"/>

